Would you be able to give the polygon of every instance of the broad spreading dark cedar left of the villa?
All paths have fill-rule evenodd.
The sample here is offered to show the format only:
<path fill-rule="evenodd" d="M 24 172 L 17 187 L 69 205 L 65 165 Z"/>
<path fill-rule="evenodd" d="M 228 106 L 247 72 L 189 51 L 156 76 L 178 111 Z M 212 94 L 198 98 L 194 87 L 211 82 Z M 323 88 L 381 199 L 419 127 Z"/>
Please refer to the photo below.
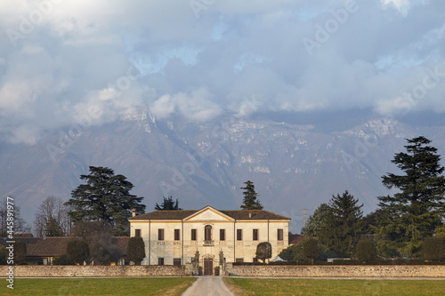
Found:
<path fill-rule="evenodd" d="M 86 184 L 79 185 L 71 192 L 67 202 L 73 207 L 69 212 L 75 221 L 99 220 L 113 227 L 113 235 L 128 236 L 132 209 L 136 214 L 142 214 L 145 205 L 141 204 L 143 197 L 130 194 L 133 184 L 123 175 L 115 175 L 107 167 L 90 166 L 89 175 L 81 175 Z"/>

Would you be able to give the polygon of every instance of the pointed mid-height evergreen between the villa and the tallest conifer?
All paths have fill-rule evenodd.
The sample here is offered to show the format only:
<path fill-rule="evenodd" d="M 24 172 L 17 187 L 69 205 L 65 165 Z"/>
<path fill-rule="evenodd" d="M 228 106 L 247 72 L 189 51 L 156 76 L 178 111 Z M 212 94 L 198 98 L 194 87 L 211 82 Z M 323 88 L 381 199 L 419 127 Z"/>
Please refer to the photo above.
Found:
<path fill-rule="evenodd" d="M 329 201 L 329 212 L 326 228 L 320 234 L 320 243 L 341 257 L 351 257 L 359 241 L 362 229 L 363 204 L 354 199 L 346 190 L 342 196 L 332 196 Z"/>

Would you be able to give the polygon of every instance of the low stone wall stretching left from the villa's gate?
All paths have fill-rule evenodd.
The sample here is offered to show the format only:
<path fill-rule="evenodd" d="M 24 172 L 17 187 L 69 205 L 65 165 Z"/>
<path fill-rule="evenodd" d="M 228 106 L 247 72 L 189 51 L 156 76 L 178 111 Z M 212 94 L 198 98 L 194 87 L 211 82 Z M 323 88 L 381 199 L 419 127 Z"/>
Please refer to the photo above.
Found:
<path fill-rule="evenodd" d="M 6 276 L 8 266 L 0 266 L 0 276 Z M 190 273 L 191 275 L 191 273 Z M 68 266 L 68 265 L 18 265 L 14 276 L 38 277 L 102 277 L 102 276 L 186 276 L 184 266 Z"/>

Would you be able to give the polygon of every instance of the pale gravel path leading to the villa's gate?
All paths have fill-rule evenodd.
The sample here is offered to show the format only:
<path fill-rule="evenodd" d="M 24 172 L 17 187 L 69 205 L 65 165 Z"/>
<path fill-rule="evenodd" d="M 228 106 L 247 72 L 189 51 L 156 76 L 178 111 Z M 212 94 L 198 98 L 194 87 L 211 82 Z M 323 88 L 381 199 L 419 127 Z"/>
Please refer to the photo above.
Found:
<path fill-rule="evenodd" d="M 200 276 L 182 296 L 234 296 L 221 276 Z"/>

